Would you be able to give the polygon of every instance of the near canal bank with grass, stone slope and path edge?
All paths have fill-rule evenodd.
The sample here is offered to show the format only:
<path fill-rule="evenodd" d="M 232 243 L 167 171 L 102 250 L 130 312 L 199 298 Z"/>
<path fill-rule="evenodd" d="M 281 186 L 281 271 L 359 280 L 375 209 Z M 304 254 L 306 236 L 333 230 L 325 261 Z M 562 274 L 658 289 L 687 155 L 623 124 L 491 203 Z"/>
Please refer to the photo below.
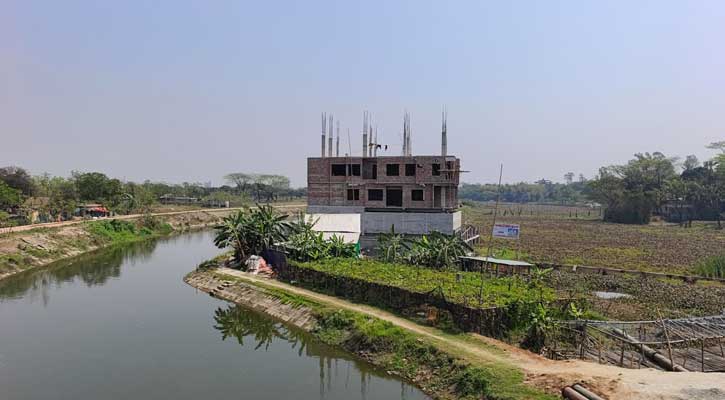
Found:
<path fill-rule="evenodd" d="M 213 263 L 207 263 L 207 265 Z M 461 347 L 456 335 L 388 312 L 228 268 L 200 268 L 185 281 L 214 297 L 273 315 L 356 354 L 439 399 L 554 399 L 490 345 Z M 472 351 L 473 349 L 473 351 Z"/>

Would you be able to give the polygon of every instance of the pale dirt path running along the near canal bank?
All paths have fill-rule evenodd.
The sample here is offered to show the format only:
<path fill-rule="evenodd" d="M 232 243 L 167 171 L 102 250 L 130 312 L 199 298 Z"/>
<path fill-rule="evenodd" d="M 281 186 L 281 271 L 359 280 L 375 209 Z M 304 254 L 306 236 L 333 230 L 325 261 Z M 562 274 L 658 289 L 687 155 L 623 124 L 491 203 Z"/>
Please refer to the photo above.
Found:
<path fill-rule="evenodd" d="M 233 269 L 221 268 L 218 271 L 251 283 L 282 289 L 323 304 L 389 321 L 426 337 L 472 362 L 511 365 L 512 368 L 524 371 L 530 384 L 550 392 L 558 391 L 566 385 L 582 382 L 585 386 L 609 399 L 705 400 L 725 398 L 725 374 L 624 369 L 581 360 L 553 361 L 484 336 L 447 335 L 437 329 L 416 324 L 377 308 L 351 303 L 337 297 Z"/>

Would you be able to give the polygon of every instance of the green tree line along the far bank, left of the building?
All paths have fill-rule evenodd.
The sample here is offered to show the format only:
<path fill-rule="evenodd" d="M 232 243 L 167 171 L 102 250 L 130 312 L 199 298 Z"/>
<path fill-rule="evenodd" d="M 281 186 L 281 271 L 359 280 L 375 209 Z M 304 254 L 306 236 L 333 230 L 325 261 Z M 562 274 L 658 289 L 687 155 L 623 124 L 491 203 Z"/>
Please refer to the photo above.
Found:
<path fill-rule="evenodd" d="M 249 174 L 254 175 L 254 174 Z M 101 172 L 71 172 L 69 177 L 50 174 L 31 175 L 24 168 L 0 168 L 0 226 L 28 223 L 29 211 L 37 211 L 43 220 L 71 218 L 80 204 L 101 203 L 117 214 L 143 213 L 159 203 L 161 196 L 192 197 L 200 203 L 224 203 L 240 206 L 252 201 L 277 201 L 299 198 L 304 189 L 293 189 L 289 179 L 280 175 L 262 175 L 252 180 L 251 190 L 238 185 L 212 186 L 210 183 L 170 184 L 146 180 L 142 183 L 108 177 Z"/>

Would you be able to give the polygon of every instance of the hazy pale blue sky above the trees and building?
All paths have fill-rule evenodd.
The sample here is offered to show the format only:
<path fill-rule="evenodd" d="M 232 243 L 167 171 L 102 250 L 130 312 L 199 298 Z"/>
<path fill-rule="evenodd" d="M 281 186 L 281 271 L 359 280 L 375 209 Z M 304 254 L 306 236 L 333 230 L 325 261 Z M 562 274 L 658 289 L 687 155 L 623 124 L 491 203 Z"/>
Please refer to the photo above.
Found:
<path fill-rule="evenodd" d="M 725 2 L 0 1 L 0 166 L 304 186 L 320 113 L 466 182 L 591 177 L 725 140 Z M 352 138 L 348 145 L 347 130 Z"/>

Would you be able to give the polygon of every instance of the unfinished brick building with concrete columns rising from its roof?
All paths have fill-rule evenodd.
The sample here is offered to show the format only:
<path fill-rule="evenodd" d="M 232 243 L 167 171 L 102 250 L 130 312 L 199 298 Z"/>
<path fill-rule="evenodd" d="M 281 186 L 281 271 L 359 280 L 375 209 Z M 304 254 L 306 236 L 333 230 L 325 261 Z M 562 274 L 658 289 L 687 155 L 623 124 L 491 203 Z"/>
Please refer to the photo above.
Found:
<path fill-rule="evenodd" d="M 323 116 L 321 156 L 307 159 L 308 213 L 359 214 L 363 235 L 389 232 L 393 226 L 396 232 L 407 234 L 434 230 L 452 234 L 460 228 L 461 161 L 446 154 L 445 116 L 440 155 L 411 154 L 407 116 L 401 156 L 377 156 L 383 146 L 377 143 L 367 118 L 363 124 L 363 156 L 340 156 L 339 133 L 333 156 L 332 129 L 326 140 L 325 125 Z"/>

